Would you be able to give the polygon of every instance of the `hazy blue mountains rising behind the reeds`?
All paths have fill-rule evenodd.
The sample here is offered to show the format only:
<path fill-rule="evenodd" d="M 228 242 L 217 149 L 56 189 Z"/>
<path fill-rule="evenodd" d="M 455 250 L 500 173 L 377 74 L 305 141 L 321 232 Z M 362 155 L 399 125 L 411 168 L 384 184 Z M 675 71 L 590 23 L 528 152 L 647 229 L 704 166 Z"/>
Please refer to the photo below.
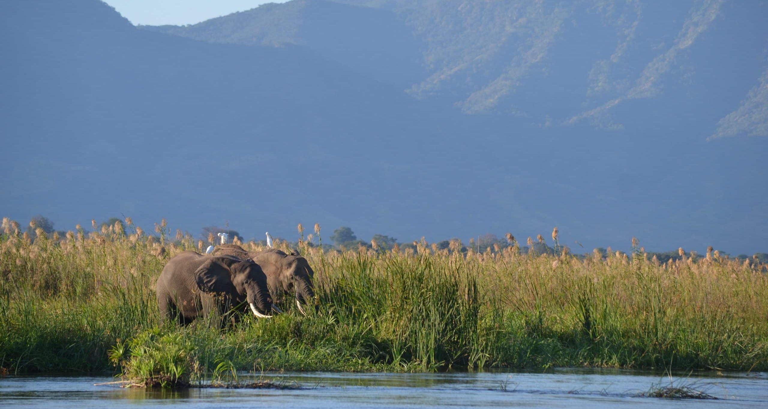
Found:
<path fill-rule="evenodd" d="M 3 216 L 768 246 L 765 2 L 0 3 Z M 8 63 L 8 61 L 11 61 Z"/>

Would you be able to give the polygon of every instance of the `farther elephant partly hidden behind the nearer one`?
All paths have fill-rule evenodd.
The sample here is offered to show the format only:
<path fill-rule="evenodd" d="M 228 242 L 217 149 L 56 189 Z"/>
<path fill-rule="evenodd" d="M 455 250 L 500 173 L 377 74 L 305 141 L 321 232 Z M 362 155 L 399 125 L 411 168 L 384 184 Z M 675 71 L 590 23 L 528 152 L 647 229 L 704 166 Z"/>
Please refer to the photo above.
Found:
<path fill-rule="evenodd" d="M 279 249 L 266 249 L 262 252 L 247 252 L 236 244 L 217 246 L 214 255 L 234 256 L 239 259 L 253 259 L 266 274 L 266 285 L 275 302 L 283 301 L 285 292 L 296 292 L 296 306 L 306 315 L 302 304 L 308 304 L 315 296 L 312 278 L 315 275 L 310 263 L 305 258 L 291 252 L 286 254 Z"/>

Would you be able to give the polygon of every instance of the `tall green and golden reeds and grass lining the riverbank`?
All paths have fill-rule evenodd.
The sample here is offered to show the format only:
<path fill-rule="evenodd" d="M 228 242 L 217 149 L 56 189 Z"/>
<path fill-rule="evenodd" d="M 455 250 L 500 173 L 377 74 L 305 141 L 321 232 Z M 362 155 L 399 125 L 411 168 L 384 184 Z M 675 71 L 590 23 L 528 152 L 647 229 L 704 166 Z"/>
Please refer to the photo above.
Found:
<path fill-rule="evenodd" d="M 423 242 L 415 252 L 304 247 L 317 312 L 287 308 L 221 331 L 158 316 L 155 279 L 171 256 L 200 246 L 191 237 L 112 228 L 88 237 L 38 232 L 31 242 L 7 224 L 0 367 L 12 373 L 768 370 L 768 277 L 755 262 L 713 256 L 664 266 L 637 247 L 583 260 L 515 246 L 464 254 Z"/>

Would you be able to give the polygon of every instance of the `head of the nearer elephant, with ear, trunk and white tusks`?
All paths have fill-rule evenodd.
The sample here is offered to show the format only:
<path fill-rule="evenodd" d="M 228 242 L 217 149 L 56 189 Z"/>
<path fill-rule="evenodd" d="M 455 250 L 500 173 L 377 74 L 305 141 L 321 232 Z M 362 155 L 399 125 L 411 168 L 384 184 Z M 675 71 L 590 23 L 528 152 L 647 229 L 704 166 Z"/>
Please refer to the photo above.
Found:
<path fill-rule="evenodd" d="M 203 292 L 232 295 L 237 302 L 248 302 L 250 312 L 271 318 L 272 299 L 261 267 L 251 259 L 214 256 L 194 272 L 197 287 Z M 277 309 L 275 308 L 277 311 Z"/>

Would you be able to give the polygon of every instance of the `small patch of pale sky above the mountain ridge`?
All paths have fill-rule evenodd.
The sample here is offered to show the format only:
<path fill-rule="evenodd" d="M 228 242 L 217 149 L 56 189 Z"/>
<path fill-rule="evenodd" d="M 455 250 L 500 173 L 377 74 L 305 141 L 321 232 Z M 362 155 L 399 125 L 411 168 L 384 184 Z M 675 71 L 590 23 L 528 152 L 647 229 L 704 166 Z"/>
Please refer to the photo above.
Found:
<path fill-rule="evenodd" d="M 187 25 L 288 0 L 105 0 L 134 25 Z"/>

